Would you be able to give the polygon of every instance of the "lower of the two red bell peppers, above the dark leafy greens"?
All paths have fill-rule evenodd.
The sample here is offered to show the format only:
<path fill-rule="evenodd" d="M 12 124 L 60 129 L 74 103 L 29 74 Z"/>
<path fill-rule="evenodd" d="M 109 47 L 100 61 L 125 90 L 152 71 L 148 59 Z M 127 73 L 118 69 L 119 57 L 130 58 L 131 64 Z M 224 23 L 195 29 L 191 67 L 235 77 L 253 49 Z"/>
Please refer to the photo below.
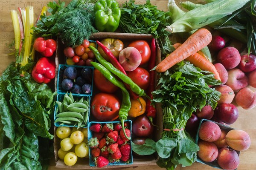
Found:
<path fill-rule="evenodd" d="M 32 69 L 31 75 L 38 83 L 49 83 L 55 78 L 55 62 L 46 57 L 40 58 Z"/>

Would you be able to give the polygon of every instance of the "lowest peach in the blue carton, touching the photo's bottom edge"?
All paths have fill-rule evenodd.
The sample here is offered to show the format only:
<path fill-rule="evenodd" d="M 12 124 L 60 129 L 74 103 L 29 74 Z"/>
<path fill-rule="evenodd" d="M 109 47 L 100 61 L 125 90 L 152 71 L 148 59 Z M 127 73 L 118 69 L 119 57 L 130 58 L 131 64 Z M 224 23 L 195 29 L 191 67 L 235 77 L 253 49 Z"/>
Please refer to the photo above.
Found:
<path fill-rule="evenodd" d="M 225 170 L 234 170 L 239 165 L 239 155 L 235 150 L 224 147 L 218 150 L 218 165 Z"/>

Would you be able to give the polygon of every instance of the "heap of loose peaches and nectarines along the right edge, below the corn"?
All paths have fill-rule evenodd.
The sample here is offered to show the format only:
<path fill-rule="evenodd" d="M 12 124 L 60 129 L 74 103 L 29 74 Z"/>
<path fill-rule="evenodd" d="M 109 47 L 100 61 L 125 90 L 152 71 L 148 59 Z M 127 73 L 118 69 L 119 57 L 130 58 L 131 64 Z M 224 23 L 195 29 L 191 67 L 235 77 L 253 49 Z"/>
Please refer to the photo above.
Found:
<path fill-rule="evenodd" d="M 213 39 L 216 37 L 213 36 Z M 250 86 L 256 88 L 256 56 L 240 55 L 233 46 L 215 52 L 217 63 L 214 66 L 222 81 L 222 85 L 216 87 L 221 92 L 218 104 L 231 103 L 235 99 L 236 104 L 244 109 L 255 107 L 256 92 Z"/>

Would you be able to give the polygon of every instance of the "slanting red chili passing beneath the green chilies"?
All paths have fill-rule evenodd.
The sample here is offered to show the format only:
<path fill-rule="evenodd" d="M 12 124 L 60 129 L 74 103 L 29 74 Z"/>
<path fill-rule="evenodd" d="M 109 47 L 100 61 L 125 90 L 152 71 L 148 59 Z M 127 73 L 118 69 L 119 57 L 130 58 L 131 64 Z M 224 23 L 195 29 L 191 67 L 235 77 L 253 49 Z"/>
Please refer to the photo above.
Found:
<path fill-rule="evenodd" d="M 113 53 L 106 46 L 104 46 L 104 44 L 102 44 L 98 40 L 96 41 L 96 43 L 102 48 L 103 52 L 105 52 L 105 54 L 108 56 L 111 63 L 113 64 L 113 66 L 116 67 L 116 69 L 119 69 L 125 75 L 127 75 L 125 72 L 125 69 L 121 66 L 121 64 L 116 59 L 116 57 L 113 55 Z M 129 90 L 129 93 L 134 100 L 137 100 L 139 98 L 139 96 L 131 90 L 131 88 L 128 84 L 125 84 L 125 87 Z"/>

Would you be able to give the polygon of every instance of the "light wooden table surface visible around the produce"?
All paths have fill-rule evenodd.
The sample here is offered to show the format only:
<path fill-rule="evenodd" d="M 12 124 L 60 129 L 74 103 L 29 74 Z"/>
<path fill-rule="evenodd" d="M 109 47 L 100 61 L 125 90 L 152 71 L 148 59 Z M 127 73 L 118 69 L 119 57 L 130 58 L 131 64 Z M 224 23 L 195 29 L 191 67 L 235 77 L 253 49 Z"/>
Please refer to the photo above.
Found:
<path fill-rule="evenodd" d="M 68 3 L 68 0 L 64 0 Z M 35 18 L 41 11 L 43 5 L 46 5 L 49 0 L 0 0 L 0 73 L 6 69 L 6 67 L 12 61 L 15 61 L 14 56 L 7 55 L 9 53 L 9 44 L 14 39 L 12 19 L 10 15 L 10 10 L 17 7 L 24 8 L 25 6 L 34 6 Z M 125 2 L 124 0 L 118 0 L 119 3 Z M 144 3 L 145 0 L 137 0 L 138 3 Z M 158 7 L 158 9 L 167 11 L 168 0 L 151 0 L 151 3 Z M 254 89 L 255 90 L 255 89 Z M 244 110 L 241 107 L 239 109 L 238 120 L 231 125 L 236 129 L 241 129 L 246 131 L 250 135 L 251 146 L 248 150 L 242 151 L 240 154 L 240 164 L 238 170 L 256 170 L 256 108 L 250 110 Z M 108 169 L 112 169 L 109 168 Z M 116 168 L 115 168 L 116 169 Z M 120 168 L 118 168 L 120 169 Z M 160 170 L 157 165 L 153 166 L 143 166 L 143 167 L 128 167 L 123 168 L 126 170 Z M 49 170 L 63 170 L 56 168 L 54 161 L 52 161 Z M 215 170 L 215 168 L 209 167 L 204 164 L 195 163 L 190 167 L 177 167 L 176 170 Z"/>

